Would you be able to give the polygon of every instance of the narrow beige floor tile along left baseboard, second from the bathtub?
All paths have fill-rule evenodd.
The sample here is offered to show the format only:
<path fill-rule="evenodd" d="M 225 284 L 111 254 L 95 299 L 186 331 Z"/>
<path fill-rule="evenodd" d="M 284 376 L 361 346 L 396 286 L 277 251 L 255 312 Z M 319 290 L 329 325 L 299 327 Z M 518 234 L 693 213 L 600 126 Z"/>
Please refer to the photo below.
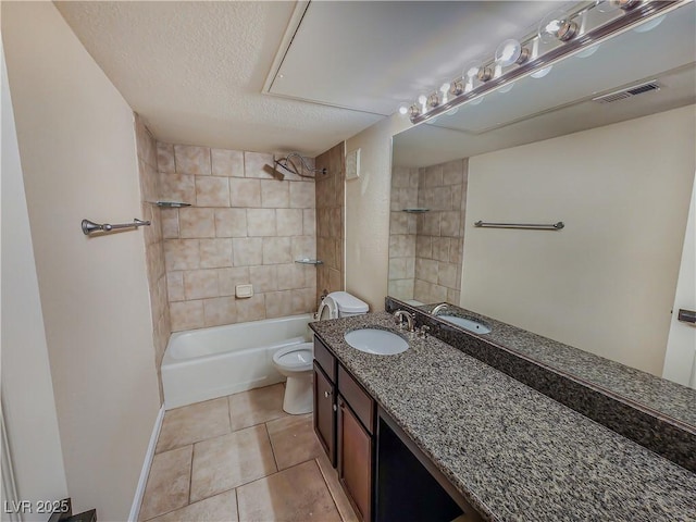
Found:
<path fill-rule="evenodd" d="M 158 453 L 152 459 L 139 520 L 148 520 L 188 504 L 192 446 Z"/>

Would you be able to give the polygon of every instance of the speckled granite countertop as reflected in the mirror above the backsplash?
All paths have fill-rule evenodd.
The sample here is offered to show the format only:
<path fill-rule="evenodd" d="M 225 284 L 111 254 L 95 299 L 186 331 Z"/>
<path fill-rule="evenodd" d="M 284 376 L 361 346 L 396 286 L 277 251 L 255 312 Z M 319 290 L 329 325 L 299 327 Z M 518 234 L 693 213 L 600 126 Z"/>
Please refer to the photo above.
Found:
<path fill-rule="evenodd" d="M 433 306 L 425 304 L 419 309 L 430 313 Z M 481 336 L 486 340 L 650 408 L 691 426 L 692 431 L 696 430 L 696 390 L 692 388 L 471 310 L 449 304 L 447 313 L 472 318 L 488 325 L 492 332 Z"/>

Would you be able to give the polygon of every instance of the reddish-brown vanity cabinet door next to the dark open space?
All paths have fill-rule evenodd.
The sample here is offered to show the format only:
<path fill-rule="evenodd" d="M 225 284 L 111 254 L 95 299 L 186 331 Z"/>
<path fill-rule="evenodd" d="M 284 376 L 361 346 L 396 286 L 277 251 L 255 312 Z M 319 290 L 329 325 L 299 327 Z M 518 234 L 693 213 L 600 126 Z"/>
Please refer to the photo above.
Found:
<path fill-rule="evenodd" d="M 372 520 L 372 437 L 338 398 L 338 477 L 363 522 Z"/>

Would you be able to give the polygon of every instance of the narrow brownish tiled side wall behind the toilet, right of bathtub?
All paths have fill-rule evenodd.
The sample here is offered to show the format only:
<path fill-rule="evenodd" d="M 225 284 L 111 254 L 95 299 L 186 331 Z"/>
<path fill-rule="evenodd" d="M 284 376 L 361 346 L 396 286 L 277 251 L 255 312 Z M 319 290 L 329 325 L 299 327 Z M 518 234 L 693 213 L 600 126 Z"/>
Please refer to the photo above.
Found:
<path fill-rule="evenodd" d="M 316 157 L 316 291 L 344 289 L 345 142 Z M 318 298 L 320 297 L 318 295 Z"/>

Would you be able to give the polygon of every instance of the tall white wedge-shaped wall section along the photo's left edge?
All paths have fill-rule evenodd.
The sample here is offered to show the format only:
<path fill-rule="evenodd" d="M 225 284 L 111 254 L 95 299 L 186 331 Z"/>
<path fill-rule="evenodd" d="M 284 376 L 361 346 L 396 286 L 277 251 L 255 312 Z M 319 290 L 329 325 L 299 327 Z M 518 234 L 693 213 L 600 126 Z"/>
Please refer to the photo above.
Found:
<path fill-rule="evenodd" d="M 30 500 L 36 506 L 38 500 L 65 498 L 67 484 L 7 78 L 3 52 L 2 411 L 12 450 L 17 499 Z M 8 462 L 3 461 L 2 465 Z M 2 520 L 11 520 L 4 509 Z M 44 521 L 46 514 L 25 513 L 24 520 Z"/>

